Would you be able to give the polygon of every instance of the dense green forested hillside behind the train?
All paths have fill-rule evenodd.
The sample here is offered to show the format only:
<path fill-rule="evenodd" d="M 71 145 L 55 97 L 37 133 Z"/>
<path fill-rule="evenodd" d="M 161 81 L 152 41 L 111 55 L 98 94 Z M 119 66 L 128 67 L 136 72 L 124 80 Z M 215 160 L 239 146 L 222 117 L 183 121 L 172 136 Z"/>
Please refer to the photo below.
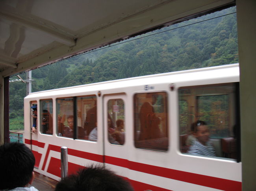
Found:
<path fill-rule="evenodd" d="M 237 63 L 234 12 L 224 9 L 35 69 L 32 91 Z M 11 130 L 24 128 L 24 96 L 26 84 L 10 83 Z"/>

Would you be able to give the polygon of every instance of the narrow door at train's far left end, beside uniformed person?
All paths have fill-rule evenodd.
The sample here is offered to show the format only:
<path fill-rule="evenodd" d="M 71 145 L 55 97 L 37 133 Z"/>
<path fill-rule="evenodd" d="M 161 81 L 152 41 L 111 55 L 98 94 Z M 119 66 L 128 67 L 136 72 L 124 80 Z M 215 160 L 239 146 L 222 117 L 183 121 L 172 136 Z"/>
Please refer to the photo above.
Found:
<path fill-rule="evenodd" d="M 38 168 L 40 157 L 38 153 L 38 125 L 37 125 L 37 102 L 30 102 L 31 111 L 31 122 L 30 122 L 30 132 L 31 132 L 31 150 L 35 156 L 35 167 Z"/>

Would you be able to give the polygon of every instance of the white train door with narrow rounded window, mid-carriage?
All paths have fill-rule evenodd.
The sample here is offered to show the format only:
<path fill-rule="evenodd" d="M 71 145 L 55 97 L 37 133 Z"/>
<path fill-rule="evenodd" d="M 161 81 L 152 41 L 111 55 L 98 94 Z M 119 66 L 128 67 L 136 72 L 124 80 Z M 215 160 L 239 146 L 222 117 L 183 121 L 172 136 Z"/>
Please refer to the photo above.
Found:
<path fill-rule="evenodd" d="M 128 144 L 126 142 L 126 95 L 104 96 L 104 150 L 106 166 L 127 176 Z"/>

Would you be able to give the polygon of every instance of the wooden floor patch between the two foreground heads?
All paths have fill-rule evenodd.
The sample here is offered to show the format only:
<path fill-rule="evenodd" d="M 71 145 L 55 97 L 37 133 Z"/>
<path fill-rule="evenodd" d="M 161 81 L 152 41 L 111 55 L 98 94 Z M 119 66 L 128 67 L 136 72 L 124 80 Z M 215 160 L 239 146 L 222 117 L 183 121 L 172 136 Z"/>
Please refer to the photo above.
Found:
<path fill-rule="evenodd" d="M 35 172 L 35 179 L 31 186 L 39 191 L 54 191 L 56 184 L 58 184 L 58 181 Z"/>

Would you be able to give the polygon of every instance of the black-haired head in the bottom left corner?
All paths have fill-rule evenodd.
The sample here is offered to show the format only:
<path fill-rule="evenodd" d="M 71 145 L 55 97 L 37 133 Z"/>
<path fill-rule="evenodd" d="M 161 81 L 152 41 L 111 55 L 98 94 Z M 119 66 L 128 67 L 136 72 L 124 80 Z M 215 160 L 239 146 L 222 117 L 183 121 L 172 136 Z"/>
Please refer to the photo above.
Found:
<path fill-rule="evenodd" d="M 0 190 L 32 184 L 34 165 L 35 157 L 25 144 L 11 142 L 0 146 Z"/>

